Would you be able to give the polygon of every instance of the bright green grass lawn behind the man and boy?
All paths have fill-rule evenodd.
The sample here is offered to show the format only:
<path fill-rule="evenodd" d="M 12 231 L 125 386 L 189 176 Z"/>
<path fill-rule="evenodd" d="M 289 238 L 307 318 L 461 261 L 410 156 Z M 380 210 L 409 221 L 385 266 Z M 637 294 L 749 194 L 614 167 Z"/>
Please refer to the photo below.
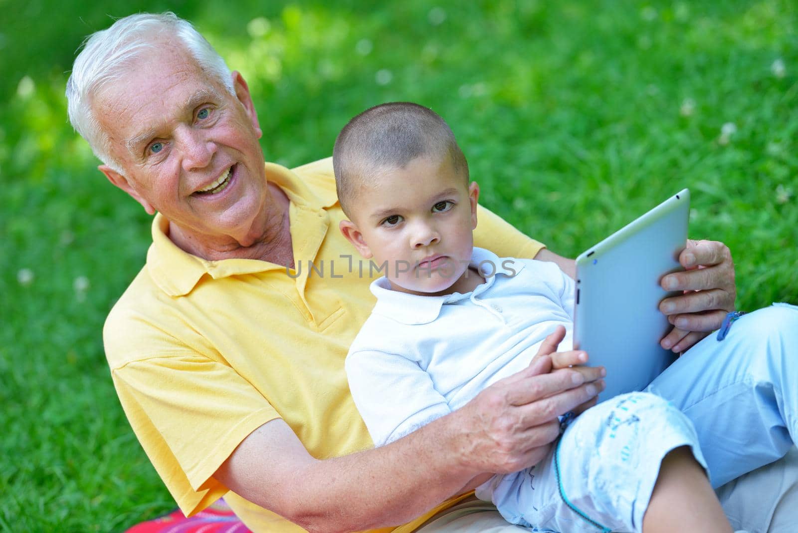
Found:
<path fill-rule="evenodd" d="M 732 249 L 737 306 L 798 303 L 792 0 L 0 7 L 0 531 L 119 531 L 174 506 L 101 344 L 149 220 L 65 119 L 74 50 L 106 14 L 192 19 L 250 82 L 269 160 L 328 156 L 350 116 L 417 101 L 452 125 L 483 203 L 552 250 L 689 187 L 690 235 Z"/>

